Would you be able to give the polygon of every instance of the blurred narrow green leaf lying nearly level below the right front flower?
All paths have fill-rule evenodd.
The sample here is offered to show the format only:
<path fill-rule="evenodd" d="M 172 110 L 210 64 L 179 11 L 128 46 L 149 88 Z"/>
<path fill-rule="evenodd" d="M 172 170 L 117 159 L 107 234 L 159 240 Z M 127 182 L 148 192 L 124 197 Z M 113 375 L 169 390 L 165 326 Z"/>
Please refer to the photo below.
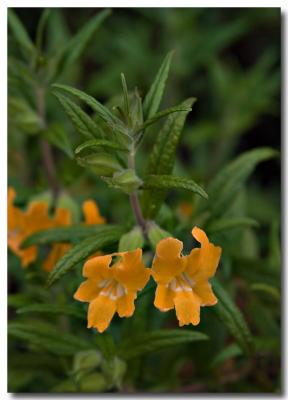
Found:
<path fill-rule="evenodd" d="M 201 332 L 183 328 L 155 330 L 122 342 L 120 344 L 119 353 L 121 357 L 129 360 L 130 358 L 139 357 L 143 354 L 154 353 L 165 347 L 201 340 L 208 340 L 208 336 Z"/>

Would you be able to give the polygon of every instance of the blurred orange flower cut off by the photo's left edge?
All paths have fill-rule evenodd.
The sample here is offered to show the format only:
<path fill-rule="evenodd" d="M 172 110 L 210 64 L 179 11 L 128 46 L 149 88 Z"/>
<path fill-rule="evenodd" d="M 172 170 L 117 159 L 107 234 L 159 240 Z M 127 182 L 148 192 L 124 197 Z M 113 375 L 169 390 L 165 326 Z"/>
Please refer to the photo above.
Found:
<path fill-rule="evenodd" d="M 52 226 L 48 216 L 48 204 L 35 201 L 29 204 L 26 212 L 15 207 L 13 202 L 16 192 L 13 188 L 8 189 L 8 246 L 13 253 L 21 259 L 21 264 L 26 268 L 37 258 L 37 247 L 30 246 L 21 249 L 21 243 L 26 237 L 42 229 Z"/>

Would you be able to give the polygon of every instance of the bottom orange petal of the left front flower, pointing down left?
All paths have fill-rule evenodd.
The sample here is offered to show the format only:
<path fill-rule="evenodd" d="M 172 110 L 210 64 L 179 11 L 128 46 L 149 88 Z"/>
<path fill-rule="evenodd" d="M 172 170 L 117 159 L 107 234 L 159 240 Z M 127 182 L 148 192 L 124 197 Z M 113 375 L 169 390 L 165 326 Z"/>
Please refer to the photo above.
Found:
<path fill-rule="evenodd" d="M 97 296 L 91 301 L 88 308 L 88 328 L 96 328 L 100 333 L 104 332 L 116 311 L 116 302 L 108 296 Z"/>

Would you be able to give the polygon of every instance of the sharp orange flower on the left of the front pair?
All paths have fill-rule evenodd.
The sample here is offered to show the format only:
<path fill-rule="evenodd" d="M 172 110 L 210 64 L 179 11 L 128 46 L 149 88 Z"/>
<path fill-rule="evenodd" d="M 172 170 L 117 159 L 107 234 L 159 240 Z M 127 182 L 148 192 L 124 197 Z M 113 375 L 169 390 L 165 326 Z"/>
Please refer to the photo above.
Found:
<path fill-rule="evenodd" d="M 110 267 L 112 257 L 120 257 Z M 101 333 L 108 328 L 115 312 L 131 317 L 137 291 L 143 289 L 150 270 L 142 262 L 142 249 L 94 257 L 86 261 L 83 276 L 87 278 L 74 294 L 79 301 L 89 302 L 88 328 Z"/>

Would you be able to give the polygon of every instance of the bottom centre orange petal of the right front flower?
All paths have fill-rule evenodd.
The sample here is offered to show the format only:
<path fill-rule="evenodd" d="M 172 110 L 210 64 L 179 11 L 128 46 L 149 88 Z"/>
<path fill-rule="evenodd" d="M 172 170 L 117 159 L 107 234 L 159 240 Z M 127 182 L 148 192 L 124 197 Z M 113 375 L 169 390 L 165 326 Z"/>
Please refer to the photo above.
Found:
<path fill-rule="evenodd" d="M 200 299 L 193 292 L 177 292 L 174 297 L 176 316 L 179 320 L 179 326 L 200 322 Z"/>

